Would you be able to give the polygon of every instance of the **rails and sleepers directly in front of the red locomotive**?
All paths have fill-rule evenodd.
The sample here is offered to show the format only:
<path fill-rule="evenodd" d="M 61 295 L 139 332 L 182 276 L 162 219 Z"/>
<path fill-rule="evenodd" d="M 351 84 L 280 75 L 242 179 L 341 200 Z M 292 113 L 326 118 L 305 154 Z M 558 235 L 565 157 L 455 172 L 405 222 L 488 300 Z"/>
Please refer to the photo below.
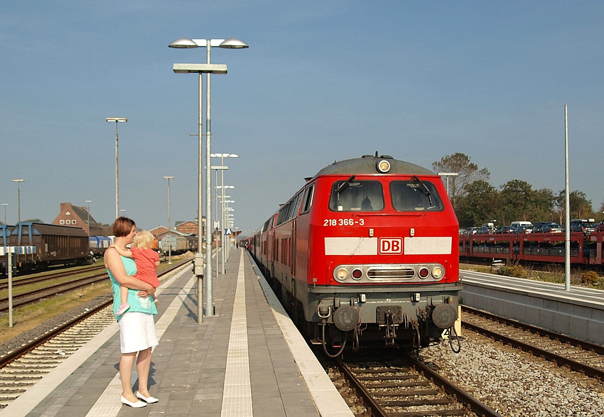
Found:
<path fill-rule="evenodd" d="M 499 416 L 411 356 L 338 359 L 336 365 L 352 393 L 361 397 L 367 416 Z"/>

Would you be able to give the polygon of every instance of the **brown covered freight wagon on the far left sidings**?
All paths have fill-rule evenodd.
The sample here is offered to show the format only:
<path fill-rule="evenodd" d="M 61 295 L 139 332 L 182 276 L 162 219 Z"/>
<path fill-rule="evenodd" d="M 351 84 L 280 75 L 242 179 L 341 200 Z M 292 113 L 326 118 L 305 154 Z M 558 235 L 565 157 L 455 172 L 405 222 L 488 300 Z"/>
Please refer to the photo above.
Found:
<path fill-rule="evenodd" d="M 13 268 L 18 272 L 51 265 L 83 265 L 90 260 L 88 234 L 79 227 L 19 222 L 8 237 Z"/>

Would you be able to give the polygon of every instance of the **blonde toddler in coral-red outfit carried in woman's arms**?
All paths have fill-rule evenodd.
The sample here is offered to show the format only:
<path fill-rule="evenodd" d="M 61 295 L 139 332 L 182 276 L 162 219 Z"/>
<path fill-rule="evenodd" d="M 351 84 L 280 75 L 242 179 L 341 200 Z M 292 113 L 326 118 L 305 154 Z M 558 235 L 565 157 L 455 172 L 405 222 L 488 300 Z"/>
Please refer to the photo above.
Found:
<path fill-rule="evenodd" d="M 138 278 L 157 288 L 160 285 L 156 272 L 156 269 L 159 266 L 159 254 L 152 249 L 154 239 L 155 237 L 149 231 L 141 230 L 134 237 L 132 248 L 130 248 L 129 251 L 124 251 L 115 245 L 109 247 L 114 248 L 120 256 L 134 259 L 134 262 L 137 265 L 137 273 L 133 275 L 134 278 Z M 126 302 L 128 299 L 127 287 L 120 286 L 120 297 L 122 304 L 117 310 L 117 316 L 123 315 L 126 310 L 130 308 L 130 304 Z M 155 294 L 153 294 L 153 301 L 157 302 Z"/>

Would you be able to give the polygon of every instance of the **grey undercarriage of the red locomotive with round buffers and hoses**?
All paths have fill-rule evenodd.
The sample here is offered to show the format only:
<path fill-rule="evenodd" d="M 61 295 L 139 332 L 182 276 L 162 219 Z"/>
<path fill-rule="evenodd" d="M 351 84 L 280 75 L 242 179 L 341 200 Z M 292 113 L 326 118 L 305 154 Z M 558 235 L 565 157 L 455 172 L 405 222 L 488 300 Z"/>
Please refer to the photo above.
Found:
<path fill-rule="evenodd" d="M 291 278 L 271 281 L 292 319 L 329 356 L 339 356 L 347 345 L 352 350 L 372 345 L 420 349 L 440 343 L 443 331 L 452 350 L 459 351 L 454 323 L 460 285 L 401 290 L 306 286 Z"/>

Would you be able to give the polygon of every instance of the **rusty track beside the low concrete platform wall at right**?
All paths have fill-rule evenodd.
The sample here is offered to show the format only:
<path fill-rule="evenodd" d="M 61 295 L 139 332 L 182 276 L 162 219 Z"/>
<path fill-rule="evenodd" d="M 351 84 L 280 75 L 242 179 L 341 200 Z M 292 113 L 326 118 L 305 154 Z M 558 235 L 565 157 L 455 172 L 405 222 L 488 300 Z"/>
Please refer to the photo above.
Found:
<path fill-rule="evenodd" d="M 604 347 L 462 307 L 462 326 L 576 372 L 604 380 Z"/>

